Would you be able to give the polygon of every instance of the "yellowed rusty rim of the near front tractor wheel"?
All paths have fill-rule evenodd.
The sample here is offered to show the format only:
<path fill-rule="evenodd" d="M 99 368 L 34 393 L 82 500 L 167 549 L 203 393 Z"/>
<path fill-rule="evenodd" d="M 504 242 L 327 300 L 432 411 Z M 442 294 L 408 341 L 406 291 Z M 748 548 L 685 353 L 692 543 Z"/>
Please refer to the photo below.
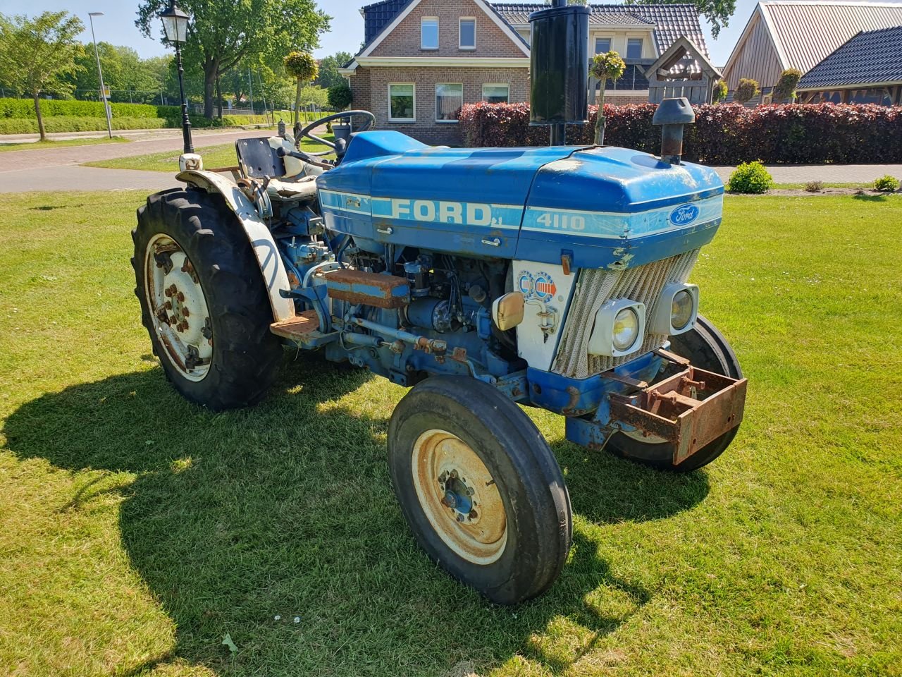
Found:
<path fill-rule="evenodd" d="M 422 433 L 413 445 L 413 483 L 429 524 L 457 555 L 491 564 L 507 545 L 507 513 L 483 460 L 456 435 Z"/>

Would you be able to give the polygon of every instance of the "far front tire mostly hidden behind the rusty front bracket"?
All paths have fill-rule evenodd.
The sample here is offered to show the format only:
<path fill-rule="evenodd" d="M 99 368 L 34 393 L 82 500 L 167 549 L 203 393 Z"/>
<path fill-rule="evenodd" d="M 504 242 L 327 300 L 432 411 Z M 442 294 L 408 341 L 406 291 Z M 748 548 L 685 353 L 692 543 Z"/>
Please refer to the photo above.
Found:
<path fill-rule="evenodd" d="M 739 360 L 727 339 L 702 315 L 698 316 L 694 329 L 670 338 L 670 350 L 680 357 L 686 357 L 693 366 L 731 378 L 742 378 Z M 624 459 L 642 465 L 690 472 L 706 466 L 723 454 L 738 431 L 739 426 L 736 426 L 731 431 L 724 432 L 679 464 L 673 462 L 674 445 L 666 441 L 641 441 L 638 436 L 617 432 L 608 442 L 607 448 Z"/>

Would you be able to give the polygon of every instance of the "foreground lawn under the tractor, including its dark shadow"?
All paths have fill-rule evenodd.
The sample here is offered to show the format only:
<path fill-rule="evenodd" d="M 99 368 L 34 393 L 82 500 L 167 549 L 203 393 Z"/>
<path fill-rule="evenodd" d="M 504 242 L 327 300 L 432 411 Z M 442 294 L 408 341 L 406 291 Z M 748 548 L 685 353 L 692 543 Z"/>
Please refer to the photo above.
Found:
<path fill-rule="evenodd" d="M 902 674 L 902 198 L 726 201 L 693 280 L 749 402 L 709 468 L 529 410 L 575 547 L 517 608 L 413 542 L 384 458 L 403 388 L 292 353 L 253 410 L 174 393 L 132 293 L 142 200 L 0 196 L 0 672 Z"/>

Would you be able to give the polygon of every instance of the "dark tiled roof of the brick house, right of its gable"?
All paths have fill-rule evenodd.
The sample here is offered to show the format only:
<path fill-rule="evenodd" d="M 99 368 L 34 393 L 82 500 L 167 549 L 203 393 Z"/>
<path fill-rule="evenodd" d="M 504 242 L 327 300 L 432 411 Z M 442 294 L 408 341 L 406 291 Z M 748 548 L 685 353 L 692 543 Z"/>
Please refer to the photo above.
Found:
<path fill-rule="evenodd" d="M 508 23 L 523 25 L 529 23 L 529 14 L 548 5 L 538 3 L 492 3 L 495 11 L 501 14 Z M 676 42 L 680 35 L 686 35 L 695 42 L 705 56 L 708 46 L 704 42 L 702 25 L 698 20 L 698 9 L 695 5 L 588 5 L 592 9 L 590 23 L 597 25 L 595 17 L 601 21 L 640 20 L 642 23 L 655 26 L 655 42 L 658 53 L 664 53 Z M 612 18 L 616 17 L 616 18 Z M 604 25 L 618 25 L 604 23 Z M 629 24 L 624 24 L 629 27 Z M 633 24 L 638 25 L 638 24 Z"/>

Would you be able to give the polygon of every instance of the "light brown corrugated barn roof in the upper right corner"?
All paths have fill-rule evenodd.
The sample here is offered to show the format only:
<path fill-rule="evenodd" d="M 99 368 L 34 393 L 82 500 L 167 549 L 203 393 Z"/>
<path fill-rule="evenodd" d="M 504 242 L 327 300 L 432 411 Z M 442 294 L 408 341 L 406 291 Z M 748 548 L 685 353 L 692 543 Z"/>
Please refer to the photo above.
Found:
<path fill-rule="evenodd" d="M 785 68 L 803 73 L 861 31 L 902 25 L 900 3 L 764 2 L 778 55 Z"/>

